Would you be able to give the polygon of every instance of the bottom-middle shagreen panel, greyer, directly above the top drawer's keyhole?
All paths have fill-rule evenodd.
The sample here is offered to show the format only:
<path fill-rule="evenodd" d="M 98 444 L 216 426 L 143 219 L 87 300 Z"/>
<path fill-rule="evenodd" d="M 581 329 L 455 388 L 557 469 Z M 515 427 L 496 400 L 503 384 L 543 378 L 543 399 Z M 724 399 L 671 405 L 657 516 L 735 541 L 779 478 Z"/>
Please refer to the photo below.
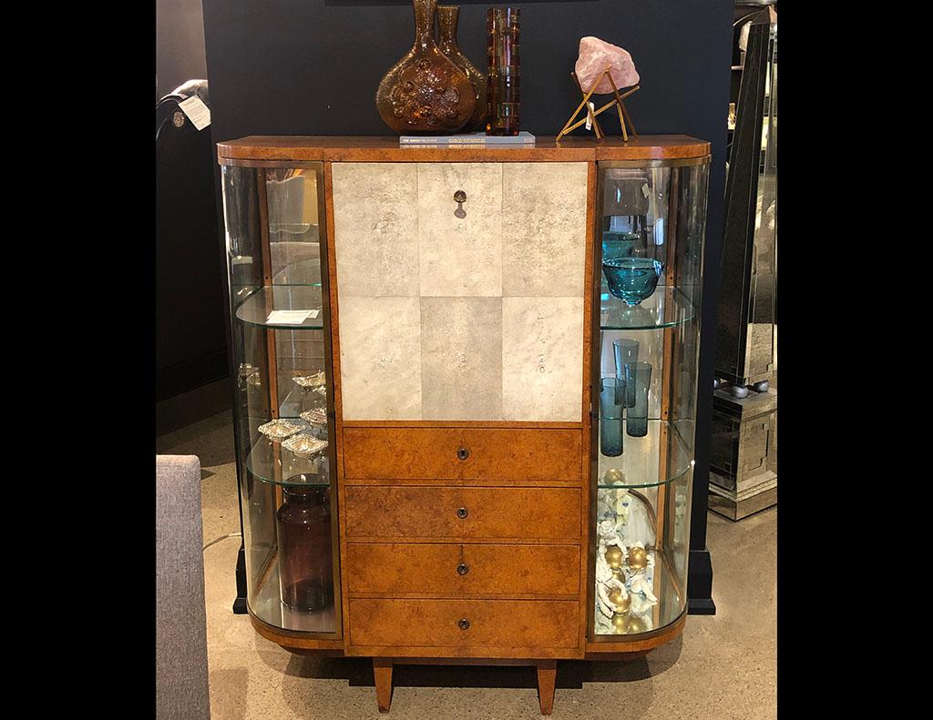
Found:
<path fill-rule="evenodd" d="M 502 298 L 421 298 L 424 420 L 502 420 Z"/>

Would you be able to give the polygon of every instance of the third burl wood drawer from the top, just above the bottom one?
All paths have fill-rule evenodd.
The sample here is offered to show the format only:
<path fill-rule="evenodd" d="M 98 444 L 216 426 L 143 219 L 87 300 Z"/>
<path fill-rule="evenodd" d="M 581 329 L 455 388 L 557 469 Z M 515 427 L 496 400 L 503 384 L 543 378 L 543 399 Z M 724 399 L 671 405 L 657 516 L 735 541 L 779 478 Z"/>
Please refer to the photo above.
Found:
<path fill-rule="evenodd" d="M 580 547 L 348 543 L 351 596 L 576 598 Z"/>

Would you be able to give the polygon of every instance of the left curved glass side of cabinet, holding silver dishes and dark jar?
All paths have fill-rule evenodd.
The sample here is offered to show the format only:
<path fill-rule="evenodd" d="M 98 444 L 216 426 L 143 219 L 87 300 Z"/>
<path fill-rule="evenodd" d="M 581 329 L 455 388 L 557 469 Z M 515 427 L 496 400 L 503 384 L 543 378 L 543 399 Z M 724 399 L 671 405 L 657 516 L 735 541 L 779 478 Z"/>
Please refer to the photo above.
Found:
<path fill-rule="evenodd" d="M 249 610 L 338 637 L 323 165 L 221 173 Z"/>

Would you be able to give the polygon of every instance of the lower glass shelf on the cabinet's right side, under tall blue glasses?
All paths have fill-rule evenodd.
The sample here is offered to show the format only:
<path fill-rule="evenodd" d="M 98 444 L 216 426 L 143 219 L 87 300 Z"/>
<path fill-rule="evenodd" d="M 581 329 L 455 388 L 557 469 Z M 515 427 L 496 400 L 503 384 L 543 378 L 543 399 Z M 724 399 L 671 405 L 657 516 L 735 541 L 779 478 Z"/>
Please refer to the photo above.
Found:
<path fill-rule="evenodd" d="M 625 422 L 627 421 L 622 421 L 623 428 Z M 605 490 L 667 485 L 689 470 L 693 462 L 692 440 L 691 420 L 649 420 L 648 435 L 644 437 L 626 435 L 623 429 L 622 454 L 609 457 L 599 453 L 596 487 Z M 666 459 L 666 469 L 663 472 L 662 457 Z M 617 473 L 612 473 L 610 478 L 606 478 L 608 470 L 620 471 L 621 478 L 618 478 Z"/>

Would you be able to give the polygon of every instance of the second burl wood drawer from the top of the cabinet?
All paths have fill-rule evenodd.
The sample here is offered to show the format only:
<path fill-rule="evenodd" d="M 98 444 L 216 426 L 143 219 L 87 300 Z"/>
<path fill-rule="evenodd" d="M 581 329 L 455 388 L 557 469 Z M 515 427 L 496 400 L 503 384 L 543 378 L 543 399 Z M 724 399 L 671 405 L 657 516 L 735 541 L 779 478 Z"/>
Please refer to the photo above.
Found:
<path fill-rule="evenodd" d="M 578 488 L 350 485 L 345 493 L 349 542 L 580 537 Z"/>

